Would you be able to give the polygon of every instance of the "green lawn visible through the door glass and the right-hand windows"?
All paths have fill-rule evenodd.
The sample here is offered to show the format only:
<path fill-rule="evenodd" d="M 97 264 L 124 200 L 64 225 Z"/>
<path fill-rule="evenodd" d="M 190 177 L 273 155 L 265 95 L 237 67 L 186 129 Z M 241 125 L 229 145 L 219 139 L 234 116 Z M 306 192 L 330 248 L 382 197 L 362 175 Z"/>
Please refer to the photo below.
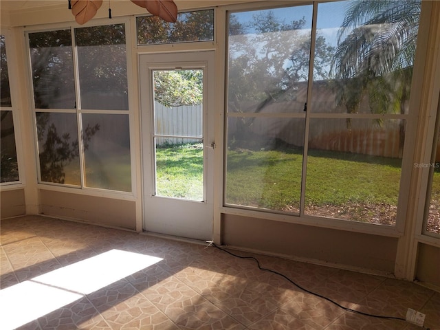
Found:
<path fill-rule="evenodd" d="M 201 198 L 201 146 L 157 148 L 161 195 Z M 270 210 L 298 209 L 303 155 L 300 150 L 228 151 L 227 203 Z M 432 187 L 440 195 L 440 172 Z M 397 206 L 401 159 L 309 151 L 306 207 Z M 354 214 L 353 214 L 354 216 Z"/>

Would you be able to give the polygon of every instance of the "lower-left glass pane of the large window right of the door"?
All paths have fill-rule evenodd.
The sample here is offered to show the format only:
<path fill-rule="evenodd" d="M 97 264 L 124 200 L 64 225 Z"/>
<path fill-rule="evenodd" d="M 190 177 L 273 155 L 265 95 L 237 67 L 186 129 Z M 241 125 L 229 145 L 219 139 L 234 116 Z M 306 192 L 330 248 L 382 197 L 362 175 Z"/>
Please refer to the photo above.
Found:
<path fill-rule="evenodd" d="M 226 203 L 299 212 L 304 120 L 229 118 Z"/>

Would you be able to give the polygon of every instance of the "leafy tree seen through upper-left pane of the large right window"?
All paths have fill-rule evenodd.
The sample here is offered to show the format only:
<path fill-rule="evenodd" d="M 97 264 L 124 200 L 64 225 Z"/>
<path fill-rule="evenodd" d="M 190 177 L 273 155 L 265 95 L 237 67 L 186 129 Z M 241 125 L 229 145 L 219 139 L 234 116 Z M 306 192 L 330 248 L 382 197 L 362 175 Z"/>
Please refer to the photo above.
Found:
<path fill-rule="evenodd" d="M 261 102 L 258 112 L 267 102 L 295 99 L 298 83 L 309 78 L 311 37 L 305 24 L 305 17 L 286 23 L 272 10 L 254 14 L 246 25 L 230 16 L 230 111 L 245 111 L 246 101 Z M 316 37 L 316 78 L 326 77 L 332 51 L 323 36 Z"/>

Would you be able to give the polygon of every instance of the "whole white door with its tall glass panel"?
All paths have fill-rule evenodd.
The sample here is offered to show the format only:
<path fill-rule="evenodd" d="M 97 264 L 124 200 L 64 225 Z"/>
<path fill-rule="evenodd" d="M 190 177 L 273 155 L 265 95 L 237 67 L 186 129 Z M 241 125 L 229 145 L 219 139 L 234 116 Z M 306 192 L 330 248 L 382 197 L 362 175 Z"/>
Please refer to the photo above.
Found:
<path fill-rule="evenodd" d="M 214 52 L 139 60 L 144 230 L 212 239 Z"/>

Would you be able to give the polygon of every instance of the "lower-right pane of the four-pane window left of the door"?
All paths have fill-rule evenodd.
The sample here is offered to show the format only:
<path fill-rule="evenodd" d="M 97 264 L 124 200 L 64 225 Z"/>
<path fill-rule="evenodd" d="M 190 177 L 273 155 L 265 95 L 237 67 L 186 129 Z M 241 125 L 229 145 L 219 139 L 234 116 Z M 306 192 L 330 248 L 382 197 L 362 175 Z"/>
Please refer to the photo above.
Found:
<path fill-rule="evenodd" d="M 85 186 L 131 191 L 129 115 L 83 114 Z"/>

